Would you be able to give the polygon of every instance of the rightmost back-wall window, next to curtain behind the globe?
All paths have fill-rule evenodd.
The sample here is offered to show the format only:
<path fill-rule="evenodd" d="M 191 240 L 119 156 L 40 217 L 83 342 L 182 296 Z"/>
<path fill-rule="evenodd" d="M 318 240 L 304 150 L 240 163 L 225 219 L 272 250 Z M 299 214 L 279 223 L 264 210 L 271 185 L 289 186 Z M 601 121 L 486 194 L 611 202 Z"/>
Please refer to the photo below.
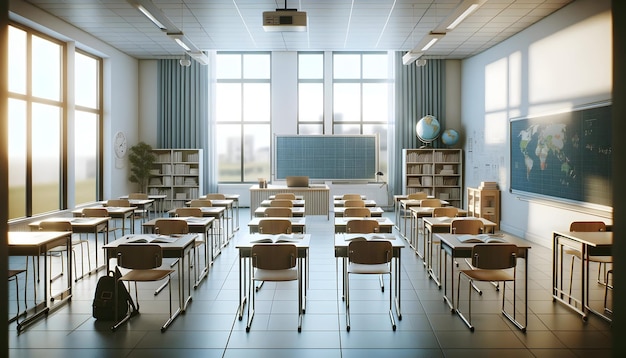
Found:
<path fill-rule="evenodd" d="M 388 167 L 392 56 L 333 53 L 333 134 L 378 134 L 379 169 Z"/>

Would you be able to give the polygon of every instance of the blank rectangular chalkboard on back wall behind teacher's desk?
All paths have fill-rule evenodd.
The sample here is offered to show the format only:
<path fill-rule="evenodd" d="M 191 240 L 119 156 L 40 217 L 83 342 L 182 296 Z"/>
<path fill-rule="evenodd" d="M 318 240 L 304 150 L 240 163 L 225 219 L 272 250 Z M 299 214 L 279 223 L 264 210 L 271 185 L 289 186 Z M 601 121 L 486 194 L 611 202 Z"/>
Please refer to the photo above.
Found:
<path fill-rule="evenodd" d="M 276 179 L 372 180 L 378 171 L 376 135 L 275 136 Z"/>

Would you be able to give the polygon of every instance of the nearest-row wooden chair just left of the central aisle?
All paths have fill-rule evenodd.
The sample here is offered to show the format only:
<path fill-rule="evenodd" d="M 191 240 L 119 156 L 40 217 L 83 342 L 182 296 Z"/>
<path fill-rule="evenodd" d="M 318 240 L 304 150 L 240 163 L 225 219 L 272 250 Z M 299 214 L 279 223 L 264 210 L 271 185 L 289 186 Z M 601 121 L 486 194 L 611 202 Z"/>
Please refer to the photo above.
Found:
<path fill-rule="evenodd" d="M 251 249 L 250 278 L 253 287 L 255 282 L 298 281 L 298 332 L 302 331 L 302 275 L 298 264 L 298 249 L 292 244 L 256 244 Z M 259 286 L 260 287 L 260 286 Z M 248 322 L 246 332 L 250 332 L 256 305 L 256 292 L 251 290 L 248 297 Z"/>

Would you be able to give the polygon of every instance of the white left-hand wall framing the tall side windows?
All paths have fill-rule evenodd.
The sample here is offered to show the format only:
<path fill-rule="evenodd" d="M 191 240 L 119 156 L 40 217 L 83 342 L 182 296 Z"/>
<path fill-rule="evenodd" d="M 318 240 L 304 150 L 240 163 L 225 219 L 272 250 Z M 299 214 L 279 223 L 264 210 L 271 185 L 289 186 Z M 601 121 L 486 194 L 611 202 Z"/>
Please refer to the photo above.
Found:
<path fill-rule="evenodd" d="M 76 48 L 104 59 L 104 197 L 117 197 L 134 190 L 128 182 L 128 163 L 123 168 L 115 166 L 111 138 L 117 131 L 123 131 L 129 145 L 137 142 L 137 60 L 25 1 L 10 0 L 9 11 L 11 20 L 59 40 L 74 42 Z M 73 203 L 69 204 L 73 207 Z"/>

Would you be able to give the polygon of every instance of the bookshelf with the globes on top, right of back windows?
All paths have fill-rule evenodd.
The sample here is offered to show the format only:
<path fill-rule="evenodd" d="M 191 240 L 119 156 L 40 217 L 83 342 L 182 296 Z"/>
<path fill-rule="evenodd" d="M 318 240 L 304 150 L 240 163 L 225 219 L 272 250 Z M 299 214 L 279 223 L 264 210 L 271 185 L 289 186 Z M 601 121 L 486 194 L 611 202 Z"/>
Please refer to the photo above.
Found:
<path fill-rule="evenodd" d="M 403 149 L 402 193 L 423 191 L 463 207 L 462 149 Z"/>

